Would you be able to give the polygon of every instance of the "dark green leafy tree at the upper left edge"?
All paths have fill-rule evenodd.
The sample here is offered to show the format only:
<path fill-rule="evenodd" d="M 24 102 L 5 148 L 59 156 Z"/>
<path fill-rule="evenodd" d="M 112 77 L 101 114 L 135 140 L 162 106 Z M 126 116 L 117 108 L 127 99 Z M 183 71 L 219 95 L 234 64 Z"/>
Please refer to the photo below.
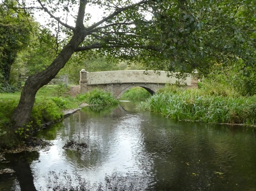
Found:
<path fill-rule="evenodd" d="M 19 50 L 27 45 L 30 29 L 24 11 L 9 9 L 14 1 L 0 4 L 0 83 L 9 83 L 11 65 Z"/>

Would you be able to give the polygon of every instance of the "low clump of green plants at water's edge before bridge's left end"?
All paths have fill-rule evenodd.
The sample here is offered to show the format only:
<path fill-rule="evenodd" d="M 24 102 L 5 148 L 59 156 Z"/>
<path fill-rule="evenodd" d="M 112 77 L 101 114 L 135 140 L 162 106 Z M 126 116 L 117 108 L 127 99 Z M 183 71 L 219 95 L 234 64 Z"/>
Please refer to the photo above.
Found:
<path fill-rule="evenodd" d="M 118 101 L 110 92 L 94 89 L 84 95 L 79 95 L 78 100 L 90 105 L 117 105 Z"/>

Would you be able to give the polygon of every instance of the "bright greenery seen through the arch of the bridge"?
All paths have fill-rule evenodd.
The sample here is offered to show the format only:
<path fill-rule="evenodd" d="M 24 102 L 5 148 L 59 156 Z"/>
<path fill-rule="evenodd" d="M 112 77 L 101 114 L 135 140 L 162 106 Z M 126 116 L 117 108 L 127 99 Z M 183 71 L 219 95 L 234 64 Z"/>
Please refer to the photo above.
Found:
<path fill-rule="evenodd" d="M 151 94 L 144 88 L 134 87 L 124 92 L 120 100 L 145 100 L 150 96 Z"/>

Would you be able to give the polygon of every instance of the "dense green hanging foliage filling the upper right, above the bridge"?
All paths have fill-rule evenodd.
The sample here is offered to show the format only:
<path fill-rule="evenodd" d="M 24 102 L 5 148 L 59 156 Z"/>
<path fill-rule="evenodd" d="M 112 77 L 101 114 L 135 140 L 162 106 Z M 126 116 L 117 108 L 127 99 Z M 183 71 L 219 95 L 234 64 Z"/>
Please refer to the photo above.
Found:
<path fill-rule="evenodd" d="M 152 23 L 138 26 L 154 39 L 150 46 L 160 47 L 145 59 L 149 67 L 207 74 L 237 59 L 254 66 L 255 1 L 161 2 L 152 5 Z"/>

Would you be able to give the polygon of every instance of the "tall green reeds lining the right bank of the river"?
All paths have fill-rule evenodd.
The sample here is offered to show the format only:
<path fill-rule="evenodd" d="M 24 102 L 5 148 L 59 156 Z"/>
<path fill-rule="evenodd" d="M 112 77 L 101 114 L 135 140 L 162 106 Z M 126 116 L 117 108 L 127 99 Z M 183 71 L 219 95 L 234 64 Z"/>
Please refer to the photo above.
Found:
<path fill-rule="evenodd" d="M 176 120 L 255 125 L 256 96 L 244 97 L 229 91 L 167 86 L 139 108 Z"/>

